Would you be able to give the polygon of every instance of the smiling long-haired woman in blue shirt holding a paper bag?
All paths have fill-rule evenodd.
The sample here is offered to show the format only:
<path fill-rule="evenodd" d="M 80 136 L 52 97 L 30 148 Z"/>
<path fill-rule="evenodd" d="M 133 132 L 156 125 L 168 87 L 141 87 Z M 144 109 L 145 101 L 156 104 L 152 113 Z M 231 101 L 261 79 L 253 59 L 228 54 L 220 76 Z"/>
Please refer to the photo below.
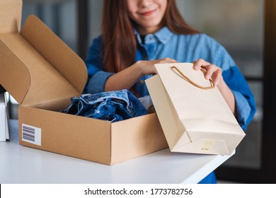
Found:
<path fill-rule="evenodd" d="M 241 71 L 224 47 L 185 23 L 175 0 L 105 0 L 102 28 L 86 59 L 85 93 L 149 95 L 144 80 L 156 74 L 154 64 L 193 62 L 207 70 L 241 127 L 251 122 L 255 102 Z M 214 173 L 202 182 L 216 182 Z"/>

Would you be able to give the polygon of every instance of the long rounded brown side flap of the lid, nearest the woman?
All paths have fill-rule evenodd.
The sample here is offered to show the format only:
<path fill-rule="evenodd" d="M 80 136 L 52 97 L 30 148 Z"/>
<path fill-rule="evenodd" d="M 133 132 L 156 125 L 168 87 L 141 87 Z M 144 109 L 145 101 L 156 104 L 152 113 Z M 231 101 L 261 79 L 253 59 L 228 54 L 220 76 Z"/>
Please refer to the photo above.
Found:
<path fill-rule="evenodd" d="M 64 78 L 80 93 L 87 81 L 87 69 L 83 60 L 76 55 L 50 28 L 34 15 L 25 21 L 21 35 L 35 50 L 52 64 Z"/>

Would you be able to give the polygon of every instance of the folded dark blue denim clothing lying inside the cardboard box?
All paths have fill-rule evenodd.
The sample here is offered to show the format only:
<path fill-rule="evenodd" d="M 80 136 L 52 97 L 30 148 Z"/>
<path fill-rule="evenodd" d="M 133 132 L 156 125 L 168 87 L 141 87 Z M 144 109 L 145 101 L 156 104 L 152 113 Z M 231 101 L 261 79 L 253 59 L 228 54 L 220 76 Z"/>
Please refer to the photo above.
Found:
<path fill-rule="evenodd" d="M 110 122 L 146 115 L 146 108 L 130 91 L 109 91 L 83 94 L 71 98 L 71 105 L 62 112 Z"/>

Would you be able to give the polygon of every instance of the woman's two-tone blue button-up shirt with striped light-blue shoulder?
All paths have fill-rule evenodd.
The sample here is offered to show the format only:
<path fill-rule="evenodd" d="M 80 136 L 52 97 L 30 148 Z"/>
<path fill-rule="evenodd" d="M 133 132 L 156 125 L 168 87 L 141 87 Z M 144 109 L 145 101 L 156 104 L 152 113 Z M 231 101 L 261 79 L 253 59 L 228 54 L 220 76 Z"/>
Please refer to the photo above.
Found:
<path fill-rule="evenodd" d="M 136 61 L 169 57 L 178 62 L 193 62 L 202 58 L 220 66 L 224 81 L 234 93 L 238 123 L 246 129 L 255 114 L 255 100 L 246 79 L 222 45 L 205 34 L 178 35 L 166 27 L 155 34 L 146 35 L 144 44 L 139 33 L 134 33 L 138 40 Z M 86 59 L 88 81 L 84 93 L 103 92 L 106 80 L 112 75 L 103 71 L 103 52 L 103 43 L 99 36 L 93 40 Z M 149 95 L 144 80 L 150 77 L 151 75 L 142 76 L 135 85 L 142 96 Z"/>

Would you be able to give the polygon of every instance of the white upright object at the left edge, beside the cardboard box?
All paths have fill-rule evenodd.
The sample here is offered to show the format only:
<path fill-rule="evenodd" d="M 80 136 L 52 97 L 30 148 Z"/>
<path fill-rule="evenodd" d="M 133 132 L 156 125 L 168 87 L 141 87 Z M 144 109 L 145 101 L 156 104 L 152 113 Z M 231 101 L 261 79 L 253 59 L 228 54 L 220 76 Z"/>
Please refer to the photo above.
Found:
<path fill-rule="evenodd" d="M 0 93 L 0 141 L 9 139 L 6 94 Z"/>

